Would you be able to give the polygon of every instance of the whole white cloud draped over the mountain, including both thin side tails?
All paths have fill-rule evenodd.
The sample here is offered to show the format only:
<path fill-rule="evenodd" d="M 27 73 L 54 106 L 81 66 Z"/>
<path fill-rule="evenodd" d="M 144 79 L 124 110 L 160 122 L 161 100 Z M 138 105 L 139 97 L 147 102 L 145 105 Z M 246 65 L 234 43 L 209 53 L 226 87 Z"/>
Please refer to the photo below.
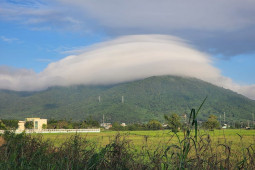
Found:
<path fill-rule="evenodd" d="M 41 90 L 50 86 L 103 85 L 157 75 L 179 75 L 232 89 L 255 99 L 254 85 L 240 86 L 212 66 L 212 58 L 184 40 L 166 35 L 124 36 L 50 63 L 41 73 L 0 68 L 0 88 Z"/>

